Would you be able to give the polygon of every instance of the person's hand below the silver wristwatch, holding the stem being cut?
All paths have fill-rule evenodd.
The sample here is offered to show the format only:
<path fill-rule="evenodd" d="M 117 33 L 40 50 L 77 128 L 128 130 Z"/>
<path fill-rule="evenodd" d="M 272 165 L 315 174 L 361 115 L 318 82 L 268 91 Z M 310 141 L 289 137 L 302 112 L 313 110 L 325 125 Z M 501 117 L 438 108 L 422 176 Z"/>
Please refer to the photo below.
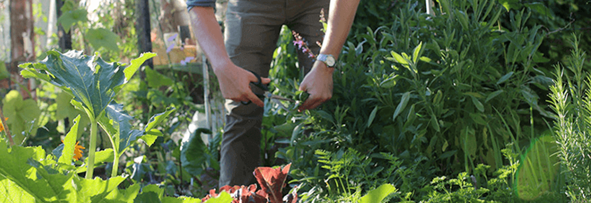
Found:
<path fill-rule="evenodd" d="M 314 62 L 314 67 L 300 84 L 300 90 L 306 91 L 310 96 L 298 107 L 298 112 L 314 109 L 332 97 L 333 71 L 335 71 L 335 68 L 326 67 L 326 64 L 322 61 Z"/>

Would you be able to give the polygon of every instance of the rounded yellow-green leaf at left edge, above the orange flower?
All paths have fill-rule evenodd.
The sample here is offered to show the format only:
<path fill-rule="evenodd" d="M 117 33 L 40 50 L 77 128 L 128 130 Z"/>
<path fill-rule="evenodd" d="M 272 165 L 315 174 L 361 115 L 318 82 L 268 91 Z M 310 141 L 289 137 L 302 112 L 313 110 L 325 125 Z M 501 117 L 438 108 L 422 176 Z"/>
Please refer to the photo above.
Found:
<path fill-rule="evenodd" d="M 24 139 L 24 135 L 37 134 L 37 122 L 41 114 L 41 110 L 37 106 L 37 102 L 32 99 L 23 100 L 21 93 L 17 90 L 11 90 L 6 94 L 2 100 L 4 106 L 2 111 L 4 117 L 8 117 L 6 124 L 8 129 L 14 136 L 14 143 L 20 144 Z"/>

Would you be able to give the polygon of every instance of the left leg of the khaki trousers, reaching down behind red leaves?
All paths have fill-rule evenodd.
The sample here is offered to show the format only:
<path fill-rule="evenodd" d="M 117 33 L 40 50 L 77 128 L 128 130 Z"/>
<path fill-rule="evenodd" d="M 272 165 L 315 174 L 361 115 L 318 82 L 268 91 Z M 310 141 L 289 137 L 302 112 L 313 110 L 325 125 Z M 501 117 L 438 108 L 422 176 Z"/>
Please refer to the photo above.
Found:
<path fill-rule="evenodd" d="M 284 1 L 228 2 L 225 44 L 234 64 L 268 77 L 272 54 L 284 18 L 279 15 Z M 252 87 L 255 93 L 262 93 Z M 219 186 L 255 183 L 252 175 L 259 166 L 263 109 L 254 103 L 243 105 L 226 100 Z"/>

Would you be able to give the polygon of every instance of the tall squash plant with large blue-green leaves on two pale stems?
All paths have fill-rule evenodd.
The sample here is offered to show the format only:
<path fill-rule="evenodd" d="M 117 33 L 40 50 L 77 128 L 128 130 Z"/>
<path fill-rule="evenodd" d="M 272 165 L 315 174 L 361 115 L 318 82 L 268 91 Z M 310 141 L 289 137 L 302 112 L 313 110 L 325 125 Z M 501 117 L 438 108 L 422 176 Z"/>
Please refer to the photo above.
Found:
<path fill-rule="evenodd" d="M 142 139 L 152 145 L 157 136 L 162 135 L 155 128 L 174 108 L 152 116 L 144 130 L 132 130 L 132 117 L 122 110 L 121 104 L 113 102 L 115 94 L 133 76 L 139 66 L 155 54 L 143 54 L 132 60 L 131 65 L 106 63 L 100 57 L 83 55 L 82 51 L 69 51 L 61 54 L 48 51 L 46 60 L 40 63 L 21 64 L 25 78 L 35 77 L 48 81 L 70 93 L 70 101 L 77 109 L 83 110 L 90 120 L 90 146 L 86 178 L 93 177 L 97 126 L 100 125 L 108 134 L 113 146 L 113 169 L 111 176 L 117 175 L 119 156 L 125 152 L 131 142 Z"/>

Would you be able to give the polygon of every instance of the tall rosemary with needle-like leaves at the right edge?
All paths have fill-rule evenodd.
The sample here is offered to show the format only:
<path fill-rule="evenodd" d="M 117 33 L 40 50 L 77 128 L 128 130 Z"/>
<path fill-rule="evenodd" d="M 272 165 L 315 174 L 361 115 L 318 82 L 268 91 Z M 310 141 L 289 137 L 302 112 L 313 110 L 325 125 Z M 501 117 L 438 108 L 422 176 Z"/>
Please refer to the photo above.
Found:
<path fill-rule="evenodd" d="M 577 202 L 591 197 L 591 75 L 583 70 L 585 53 L 579 48 L 579 38 L 574 36 L 571 45 L 566 68 L 556 66 L 550 103 L 557 114 L 558 158 L 569 177 L 567 193 Z"/>

